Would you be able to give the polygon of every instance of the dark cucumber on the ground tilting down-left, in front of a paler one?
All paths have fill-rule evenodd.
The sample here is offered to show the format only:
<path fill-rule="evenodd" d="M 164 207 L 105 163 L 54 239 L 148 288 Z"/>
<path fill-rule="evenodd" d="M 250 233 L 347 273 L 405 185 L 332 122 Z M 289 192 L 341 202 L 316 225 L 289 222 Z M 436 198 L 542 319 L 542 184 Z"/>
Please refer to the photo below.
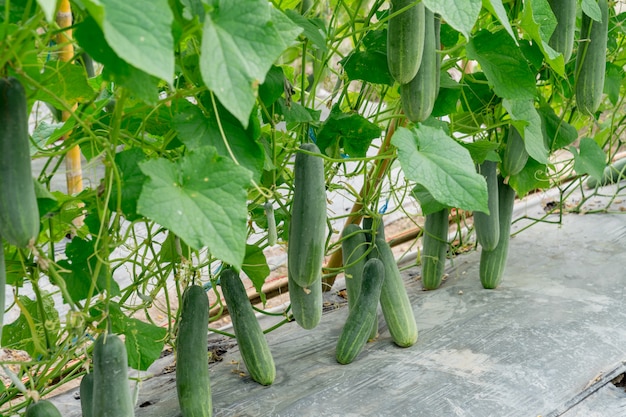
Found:
<path fill-rule="evenodd" d="M 346 319 L 337 342 L 335 357 L 345 365 L 352 362 L 367 343 L 376 321 L 378 300 L 385 278 L 385 266 L 380 259 L 372 258 L 363 266 L 363 282 L 359 296 Z"/>

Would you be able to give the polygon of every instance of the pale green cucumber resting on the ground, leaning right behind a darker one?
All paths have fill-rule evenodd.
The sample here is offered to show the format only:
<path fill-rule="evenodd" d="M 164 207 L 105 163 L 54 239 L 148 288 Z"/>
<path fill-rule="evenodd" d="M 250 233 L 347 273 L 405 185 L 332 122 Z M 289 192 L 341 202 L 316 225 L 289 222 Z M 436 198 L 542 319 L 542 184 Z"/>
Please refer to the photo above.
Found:
<path fill-rule="evenodd" d="M 377 237 L 376 256 L 385 266 L 385 280 L 380 292 L 380 307 L 394 343 L 409 347 L 417 341 L 417 323 L 398 264 L 387 241 Z"/>

